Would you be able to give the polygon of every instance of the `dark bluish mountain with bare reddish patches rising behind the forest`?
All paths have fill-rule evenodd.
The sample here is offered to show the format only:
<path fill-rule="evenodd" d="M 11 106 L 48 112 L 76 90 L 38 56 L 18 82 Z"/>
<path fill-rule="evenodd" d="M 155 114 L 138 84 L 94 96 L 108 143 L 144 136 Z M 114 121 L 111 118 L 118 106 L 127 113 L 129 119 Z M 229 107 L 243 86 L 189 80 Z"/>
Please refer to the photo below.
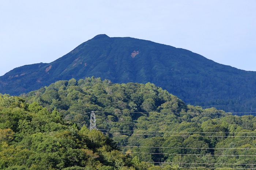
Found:
<path fill-rule="evenodd" d="M 151 82 L 188 104 L 256 111 L 256 72 L 222 65 L 185 49 L 105 34 L 51 63 L 11 70 L 0 77 L 0 93 L 19 95 L 58 80 L 91 76 L 113 83 Z"/>

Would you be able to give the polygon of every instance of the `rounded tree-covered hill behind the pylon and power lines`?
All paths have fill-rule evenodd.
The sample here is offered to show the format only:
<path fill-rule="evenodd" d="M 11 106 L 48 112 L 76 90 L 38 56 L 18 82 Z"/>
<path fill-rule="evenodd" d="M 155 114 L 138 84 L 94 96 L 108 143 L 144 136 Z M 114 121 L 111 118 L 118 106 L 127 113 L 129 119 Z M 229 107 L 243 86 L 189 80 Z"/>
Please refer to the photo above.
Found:
<path fill-rule="evenodd" d="M 135 169 L 256 166 L 254 116 L 233 116 L 215 108 L 186 105 L 154 84 L 112 84 L 94 77 L 71 79 L 30 92 L 23 99 L 30 105 L 39 103 L 49 113 L 58 112 L 69 124 L 76 123 L 79 132 L 90 127 L 90 113 L 94 111 L 98 131 L 116 142 L 114 146 L 123 157 L 131 157 L 130 166 Z"/>

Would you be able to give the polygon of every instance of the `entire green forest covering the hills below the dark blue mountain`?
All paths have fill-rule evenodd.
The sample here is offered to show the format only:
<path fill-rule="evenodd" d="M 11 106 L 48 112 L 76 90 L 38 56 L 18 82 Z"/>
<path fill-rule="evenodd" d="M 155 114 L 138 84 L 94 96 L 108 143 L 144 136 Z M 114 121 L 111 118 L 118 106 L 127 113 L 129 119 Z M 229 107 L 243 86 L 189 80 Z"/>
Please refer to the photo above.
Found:
<path fill-rule="evenodd" d="M 0 115 L 0 169 L 256 167 L 254 116 L 187 105 L 150 83 L 57 81 L 0 95 Z"/>

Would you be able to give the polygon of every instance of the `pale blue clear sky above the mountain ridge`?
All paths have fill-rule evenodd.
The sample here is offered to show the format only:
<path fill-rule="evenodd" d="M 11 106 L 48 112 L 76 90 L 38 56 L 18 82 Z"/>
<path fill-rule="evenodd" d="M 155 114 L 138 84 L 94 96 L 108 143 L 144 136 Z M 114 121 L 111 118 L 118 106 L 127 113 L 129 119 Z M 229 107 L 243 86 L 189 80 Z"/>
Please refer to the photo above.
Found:
<path fill-rule="evenodd" d="M 0 76 L 52 62 L 98 34 L 256 71 L 256 0 L 0 0 Z"/>

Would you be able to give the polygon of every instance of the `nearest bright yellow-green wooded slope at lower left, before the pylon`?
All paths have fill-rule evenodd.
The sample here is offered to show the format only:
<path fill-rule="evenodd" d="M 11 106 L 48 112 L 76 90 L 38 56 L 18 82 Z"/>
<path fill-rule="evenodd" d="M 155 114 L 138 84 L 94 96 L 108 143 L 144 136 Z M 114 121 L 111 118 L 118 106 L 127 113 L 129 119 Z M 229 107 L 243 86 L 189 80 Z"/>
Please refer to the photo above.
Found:
<path fill-rule="evenodd" d="M 57 109 L 49 112 L 35 102 L 27 108 L 3 105 L 0 118 L 0 169 L 134 170 L 112 139 L 85 126 L 79 130 Z"/>

